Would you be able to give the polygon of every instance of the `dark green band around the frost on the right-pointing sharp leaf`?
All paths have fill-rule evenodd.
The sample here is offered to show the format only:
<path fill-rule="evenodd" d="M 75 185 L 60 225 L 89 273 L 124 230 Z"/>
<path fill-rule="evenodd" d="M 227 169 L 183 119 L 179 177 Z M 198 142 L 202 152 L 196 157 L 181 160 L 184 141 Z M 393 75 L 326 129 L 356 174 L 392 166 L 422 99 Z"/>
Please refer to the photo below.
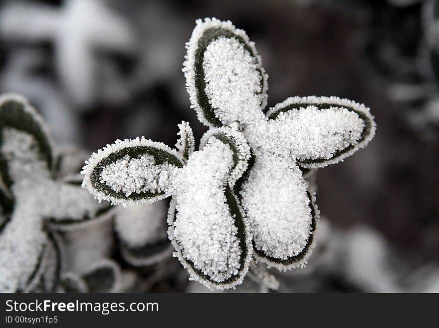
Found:
<path fill-rule="evenodd" d="M 268 119 L 276 119 L 277 116 L 279 115 L 279 113 L 281 112 L 288 112 L 290 110 L 296 110 L 299 108 L 305 108 L 308 106 L 316 106 L 319 110 L 320 109 L 328 109 L 331 107 L 343 107 L 346 108 L 348 111 L 354 112 L 356 113 L 361 120 L 363 120 L 364 122 L 364 129 L 361 132 L 360 135 L 360 140 L 358 140 L 357 144 L 363 142 L 367 136 L 370 134 L 371 129 L 372 129 L 372 122 L 369 119 L 369 117 L 366 116 L 365 113 L 355 110 L 353 107 L 350 106 L 346 106 L 346 105 L 340 105 L 337 103 L 323 103 L 323 104 L 315 104 L 315 103 L 295 103 L 295 104 L 290 104 L 288 106 L 285 106 L 283 108 L 280 108 L 279 110 L 277 110 L 276 112 L 272 113 Z M 348 151 L 352 150 L 353 148 L 355 148 L 356 145 L 350 144 L 348 147 L 341 149 L 341 150 L 337 150 L 330 158 L 317 158 L 317 159 L 307 159 L 307 160 L 302 160 L 300 162 L 298 162 L 298 164 L 317 164 L 317 163 L 323 163 L 326 161 L 330 161 L 334 158 L 337 158 L 345 153 L 347 153 Z"/>

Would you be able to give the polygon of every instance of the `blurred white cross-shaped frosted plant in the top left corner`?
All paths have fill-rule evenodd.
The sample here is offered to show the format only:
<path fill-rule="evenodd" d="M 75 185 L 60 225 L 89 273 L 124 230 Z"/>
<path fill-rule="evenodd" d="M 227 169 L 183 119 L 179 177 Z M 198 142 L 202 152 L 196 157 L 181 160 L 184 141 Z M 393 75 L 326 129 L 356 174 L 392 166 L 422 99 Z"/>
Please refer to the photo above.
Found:
<path fill-rule="evenodd" d="M 52 42 L 62 84 L 77 104 L 90 105 L 98 87 L 96 68 L 105 69 L 95 50 L 132 53 L 135 40 L 131 26 L 104 0 L 66 0 L 59 8 L 27 2 L 11 1 L 3 7 L 2 36 Z"/>

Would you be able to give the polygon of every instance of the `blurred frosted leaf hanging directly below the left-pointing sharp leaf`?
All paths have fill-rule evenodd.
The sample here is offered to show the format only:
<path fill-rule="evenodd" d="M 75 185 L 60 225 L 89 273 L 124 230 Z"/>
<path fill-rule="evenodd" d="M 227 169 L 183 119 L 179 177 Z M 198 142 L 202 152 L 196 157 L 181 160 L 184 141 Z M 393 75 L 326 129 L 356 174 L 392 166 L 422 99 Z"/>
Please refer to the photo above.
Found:
<path fill-rule="evenodd" d="M 118 208 L 114 220 L 120 252 L 134 266 L 155 264 L 172 253 L 167 235 L 167 202 Z"/>

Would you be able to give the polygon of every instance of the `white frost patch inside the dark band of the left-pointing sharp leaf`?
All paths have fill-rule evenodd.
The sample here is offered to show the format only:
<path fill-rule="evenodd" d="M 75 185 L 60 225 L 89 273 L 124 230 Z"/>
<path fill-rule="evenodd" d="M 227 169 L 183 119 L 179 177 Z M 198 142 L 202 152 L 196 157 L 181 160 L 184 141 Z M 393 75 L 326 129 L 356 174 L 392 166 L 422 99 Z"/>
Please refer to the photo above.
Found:
<path fill-rule="evenodd" d="M 100 182 L 128 197 L 132 193 L 164 191 L 172 172 L 171 164 L 154 165 L 151 155 L 143 154 L 137 158 L 125 155 L 102 170 Z"/>

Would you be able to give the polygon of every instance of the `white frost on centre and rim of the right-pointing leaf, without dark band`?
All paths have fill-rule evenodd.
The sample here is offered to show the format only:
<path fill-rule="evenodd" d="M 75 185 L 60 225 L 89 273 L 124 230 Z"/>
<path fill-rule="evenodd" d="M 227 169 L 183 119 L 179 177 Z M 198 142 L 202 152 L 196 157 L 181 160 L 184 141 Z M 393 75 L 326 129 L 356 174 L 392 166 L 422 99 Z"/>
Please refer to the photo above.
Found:
<path fill-rule="evenodd" d="M 349 99 L 342 99 L 334 96 L 290 97 L 270 108 L 266 116 L 270 117 L 281 108 L 291 104 L 298 104 L 299 106 L 300 104 L 304 105 L 300 106 L 300 110 L 291 110 L 283 114 L 279 113 L 278 117 L 273 121 L 276 122 L 279 120 L 279 124 L 282 125 L 285 124 L 285 121 L 290 119 L 291 121 L 295 121 L 291 122 L 292 124 L 300 125 L 301 133 L 296 133 L 295 142 L 308 146 L 302 147 L 300 152 L 293 154 L 296 156 L 296 159 L 299 161 L 316 158 L 328 159 L 335 154 L 337 150 L 343 150 L 349 145 L 353 146 L 351 150 L 346 151 L 333 159 L 319 163 L 301 163 L 300 165 L 302 167 L 325 167 L 330 164 L 341 162 L 360 148 L 366 147 L 375 136 L 376 124 L 368 107 Z M 308 106 L 307 104 L 312 105 Z M 331 107 L 329 109 L 316 111 L 316 105 L 319 104 L 330 104 Z M 361 115 L 365 116 L 370 122 L 370 130 L 364 140 L 360 141 L 360 135 L 365 128 L 365 123 L 356 112 L 348 110 L 349 108 L 361 113 Z M 275 123 L 276 126 L 277 124 L 278 123 Z M 282 130 L 281 127 L 277 128 Z M 278 138 L 282 137 L 285 138 L 285 136 L 282 135 L 279 135 Z M 318 154 L 320 154 L 320 156 L 318 156 Z"/>

